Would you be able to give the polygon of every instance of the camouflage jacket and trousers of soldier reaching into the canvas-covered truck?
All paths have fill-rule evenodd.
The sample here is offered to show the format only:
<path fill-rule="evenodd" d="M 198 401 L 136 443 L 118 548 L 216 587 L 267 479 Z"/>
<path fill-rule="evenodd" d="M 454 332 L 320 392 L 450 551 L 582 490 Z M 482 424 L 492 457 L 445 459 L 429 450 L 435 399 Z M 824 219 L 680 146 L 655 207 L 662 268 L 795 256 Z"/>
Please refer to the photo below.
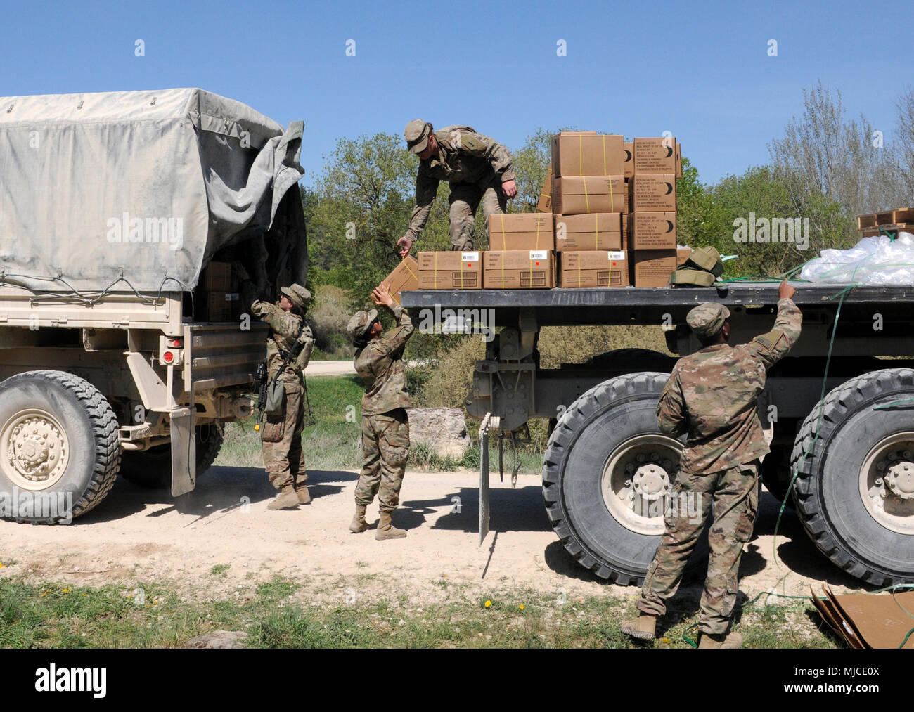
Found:
<path fill-rule="evenodd" d="M 270 380 L 279 372 L 285 356 L 295 345 L 299 330 L 314 341 L 308 324 L 292 312 L 285 312 L 275 304 L 251 303 L 250 311 L 260 320 L 270 324 L 267 337 L 267 367 Z M 307 348 L 307 345 L 305 345 Z M 302 430 L 304 428 L 305 389 L 302 371 L 294 367 L 294 359 L 282 369 L 277 382 L 285 388 L 285 408 L 279 415 L 270 415 L 260 429 L 263 446 L 263 464 L 271 484 L 282 490 L 286 484 L 303 484 L 308 479 L 302 459 Z"/>

